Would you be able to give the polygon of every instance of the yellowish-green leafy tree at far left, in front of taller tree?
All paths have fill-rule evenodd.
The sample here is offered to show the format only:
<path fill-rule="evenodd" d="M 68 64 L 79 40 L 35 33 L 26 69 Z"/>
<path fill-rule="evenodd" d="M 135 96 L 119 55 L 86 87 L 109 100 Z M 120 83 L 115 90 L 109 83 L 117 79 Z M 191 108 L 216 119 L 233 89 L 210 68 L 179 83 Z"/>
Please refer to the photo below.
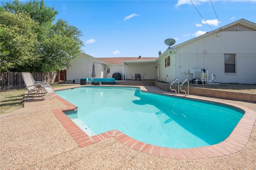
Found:
<path fill-rule="evenodd" d="M 0 10 L 0 71 L 34 71 L 40 63 L 37 34 L 38 23 L 22 13 Z"/>

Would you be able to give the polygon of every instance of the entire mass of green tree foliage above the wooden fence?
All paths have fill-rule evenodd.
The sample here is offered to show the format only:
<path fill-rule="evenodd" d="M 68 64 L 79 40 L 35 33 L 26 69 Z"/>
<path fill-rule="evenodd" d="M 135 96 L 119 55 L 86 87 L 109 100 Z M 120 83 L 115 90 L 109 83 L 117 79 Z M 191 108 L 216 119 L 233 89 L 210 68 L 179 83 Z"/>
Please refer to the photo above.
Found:
<path fill-rule="evenodd" d="M 84 46 L 82 32 L 44 1 L 2 3 L 0 71 L 54 72 L 70 65 Z"/>

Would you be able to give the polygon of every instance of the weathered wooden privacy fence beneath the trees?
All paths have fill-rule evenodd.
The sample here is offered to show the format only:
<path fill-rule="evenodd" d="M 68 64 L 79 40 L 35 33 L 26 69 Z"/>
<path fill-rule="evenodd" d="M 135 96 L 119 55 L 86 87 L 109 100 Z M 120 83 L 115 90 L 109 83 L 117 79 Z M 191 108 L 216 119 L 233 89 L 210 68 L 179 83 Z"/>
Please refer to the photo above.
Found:
<path fill-rule="evenodd" d="M 0 90 L 17 89 L 21 87 L 26 87 L 22 75 L 22 72 L 1 72 Z M 47 81 L 49 83 L 54 83 L 58 81 L 58 73 L 31 73 L 35 81 Z"/>

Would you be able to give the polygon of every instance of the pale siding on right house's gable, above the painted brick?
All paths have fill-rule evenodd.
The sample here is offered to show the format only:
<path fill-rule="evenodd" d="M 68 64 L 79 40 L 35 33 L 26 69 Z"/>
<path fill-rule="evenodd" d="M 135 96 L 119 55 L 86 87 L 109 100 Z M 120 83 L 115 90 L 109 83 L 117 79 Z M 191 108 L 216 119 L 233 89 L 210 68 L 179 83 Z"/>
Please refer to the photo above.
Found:
<path fill-rule="evenodd" d="M 256 31 L 211 34 L 176 49 L 180 53 L 256 53 Z"/>

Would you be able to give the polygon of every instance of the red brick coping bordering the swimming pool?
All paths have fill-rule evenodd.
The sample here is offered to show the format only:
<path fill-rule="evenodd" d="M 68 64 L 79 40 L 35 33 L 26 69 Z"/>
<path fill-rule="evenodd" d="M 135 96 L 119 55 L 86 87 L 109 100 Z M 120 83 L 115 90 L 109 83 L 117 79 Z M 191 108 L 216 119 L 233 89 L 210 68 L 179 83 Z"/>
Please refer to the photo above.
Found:
<path fill-rule="evenodd" d="M 67 107 L 60 109 L 53 109 L 52 113 L 60 121 L 68 133 L 73 137 L 76 143 L 82 148 L 90 144 L 101 142 L 108 138 L 114 138 L 118 142 L 133 148 L 135 150 L 145 152 L 148 154 L 162 156 L 165 158 L 175 158 L 175 159 L 202 159 L 202 158 L 213 158 L 216 156 L 224 156 L 236 153 L 246 146 L 249 141 L 254 123 L 256 120 L 256 113 L 250 109 L 240 107 L 237 105 L 232 105 L 238 107 L 245 111 L 244 116 L 240 119 L 239 123 L 236 125 L 230 136 L 226 140 L 210 145 L 198 148 L 187 148 L 187 149 L 176 149 L 176 148 L 166 148 L 160 146 L 154 146 L 152 144 L 147 144 L 140 142 L 118 130 L 110 130 L 101 134 L 94 136 L 88 136 L 80 127 L 78 127 L 71 119 L 69 119 L 63 111 L 72 111 L 77 109 L 75 105 L 69 103 L 68 101 L 62 99 L 58 95 L 55 96 L 56 99 L 64 103 Z"/>

